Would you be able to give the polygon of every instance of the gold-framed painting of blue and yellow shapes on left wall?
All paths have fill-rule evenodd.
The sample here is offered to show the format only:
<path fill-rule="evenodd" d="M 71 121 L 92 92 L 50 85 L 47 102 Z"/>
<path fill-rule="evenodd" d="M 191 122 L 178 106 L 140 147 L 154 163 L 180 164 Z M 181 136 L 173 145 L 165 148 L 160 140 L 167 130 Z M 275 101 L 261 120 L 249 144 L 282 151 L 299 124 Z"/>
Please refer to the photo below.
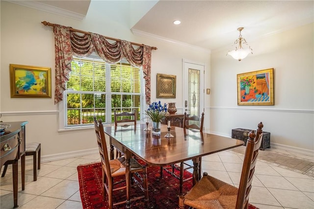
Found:
<path fill-rule="evenodd" d="M 11 98 L 51 98 L 51 68 L 10 64 Z"/>

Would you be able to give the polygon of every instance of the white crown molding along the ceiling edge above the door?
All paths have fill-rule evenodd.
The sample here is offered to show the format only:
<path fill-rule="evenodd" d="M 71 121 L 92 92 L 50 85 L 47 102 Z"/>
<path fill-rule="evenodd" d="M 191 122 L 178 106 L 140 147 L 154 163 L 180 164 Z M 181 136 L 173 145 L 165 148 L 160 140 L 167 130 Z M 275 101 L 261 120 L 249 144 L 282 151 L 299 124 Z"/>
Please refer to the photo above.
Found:
<path fill-rule="evenodd" d="M 142 36 L 142 37 L 150 38 L 150 39 L 155 39 L 157 41 L 162 41 L 162 42 L 166 42 L 166 43 L 170 43 L 170 44 L 175 44 L 175 45 L 178 45 L 178 46 L 182 46 L 182 47 L 186 47 L 186 48 L 189 48 L 189 49 L 192 49 L 192 50 L 196 50 L 196 51 L 200 51 L 200 52 L 206 52 L 206 53 L 210 54 L 210 50 L 202 48 L 202 47 L 197 47 L 197 46 L 194 46 L 194 45 L 191 45 L 191 44 L 187 44 L 187 43 L 184 43 L 184 42 L 176 41 L 176 40 L 173 40 L 173 39 L 168 39 L 168 38 L 165 38 L 165 37 L 162 37 L 162 36 L 154 35 L 152 33 L 144 32 L 144 31 L 141 31 L 141 30 L 133 29 L 133 28 L 131 28 L 131 31 L 132 31 L 132 33 L 134 35 L 138 35 L 138 36 Z"/>

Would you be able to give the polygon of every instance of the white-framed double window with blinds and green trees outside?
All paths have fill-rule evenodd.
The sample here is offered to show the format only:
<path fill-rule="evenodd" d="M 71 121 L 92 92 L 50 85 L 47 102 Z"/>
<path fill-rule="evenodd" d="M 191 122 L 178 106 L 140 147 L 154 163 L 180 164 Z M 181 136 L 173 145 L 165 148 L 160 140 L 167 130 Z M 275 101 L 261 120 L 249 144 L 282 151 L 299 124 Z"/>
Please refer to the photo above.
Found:
<path fill-rule="evenodd" d="M 140 120 L 145 108 L 143 71 L 124 61 L 108 64 L 99 57 L 74 57 L 64 97 L 65 128 L 93 124 L 94 115 L 113 123 L 114 110 L 136 109 Z"/>

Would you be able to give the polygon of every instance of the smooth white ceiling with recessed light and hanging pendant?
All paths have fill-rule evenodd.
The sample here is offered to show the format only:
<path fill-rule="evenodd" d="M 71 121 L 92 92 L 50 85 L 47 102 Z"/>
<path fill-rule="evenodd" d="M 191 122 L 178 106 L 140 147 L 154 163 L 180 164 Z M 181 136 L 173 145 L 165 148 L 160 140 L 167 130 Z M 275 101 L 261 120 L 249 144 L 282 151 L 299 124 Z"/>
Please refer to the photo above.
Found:
<path fill-rule="evenodd" d="M 47 4 L 82 17 L 90 4 L 90 0 L 75 0 L 75 4 L 73 0 L 28 2 Z M 173 25 L 174 20 L 180 20 L 181 25 Z M 237 27 L 244 27 L 242 36 L 250 44 L 313 22 L 314 0 L 159 0 L 130 29 L 137 35 L 215 50 L 233 45 L 239 35 Z"/>

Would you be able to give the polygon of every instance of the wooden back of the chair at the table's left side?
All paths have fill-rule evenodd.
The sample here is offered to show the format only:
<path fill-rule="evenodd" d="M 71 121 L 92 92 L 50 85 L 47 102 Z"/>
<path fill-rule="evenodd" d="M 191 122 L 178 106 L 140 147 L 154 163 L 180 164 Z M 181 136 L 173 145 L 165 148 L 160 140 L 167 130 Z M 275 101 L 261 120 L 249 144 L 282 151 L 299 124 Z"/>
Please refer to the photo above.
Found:
<path fill-rule="evenodd" d="M 96 139 L 97 139 L 97 144 L 98 144 L 103 171 L 105 171 L 105 175 L 107 179 L 111 179 L 110 163 L 109 163 L 109 156 L 107 152 L 107 143 L 105 140 L 104 125 L 103 125 L 102 119 L 99 119 L 98 122 L 97 122 L 96 116 L 94 116 Z M 104 174 L 103 174 L 103 177 L 104 177 Z"/>

